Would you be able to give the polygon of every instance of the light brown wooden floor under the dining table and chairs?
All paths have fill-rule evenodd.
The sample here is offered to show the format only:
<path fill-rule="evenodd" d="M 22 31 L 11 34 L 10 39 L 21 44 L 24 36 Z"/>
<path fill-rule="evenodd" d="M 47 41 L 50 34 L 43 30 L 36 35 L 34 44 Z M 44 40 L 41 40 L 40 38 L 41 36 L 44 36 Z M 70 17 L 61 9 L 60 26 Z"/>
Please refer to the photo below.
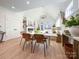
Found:
<path fill-rule="evenodd" d="M 31 53 L 29 44 L 25 50 L 19 45 L 20 39 L 12 39 L 0 43 L 0 59 L 67 59 L 61 44 L 51 41 L 47 49 L 47 56 L 44 56 L 43 45 L 37 46 L 34 53 Z"/>

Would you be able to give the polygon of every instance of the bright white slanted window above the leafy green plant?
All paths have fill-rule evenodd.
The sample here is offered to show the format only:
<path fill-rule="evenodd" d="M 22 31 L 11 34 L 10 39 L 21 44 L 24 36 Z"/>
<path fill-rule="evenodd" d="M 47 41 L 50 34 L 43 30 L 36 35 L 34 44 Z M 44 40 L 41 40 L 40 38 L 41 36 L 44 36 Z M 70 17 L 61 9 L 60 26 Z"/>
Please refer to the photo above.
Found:
<path fill-rule="evenodd" d="M 65 18 L 68 18 L 79 10 L 79 0 L 72 0 L 65 10 Z"/>

